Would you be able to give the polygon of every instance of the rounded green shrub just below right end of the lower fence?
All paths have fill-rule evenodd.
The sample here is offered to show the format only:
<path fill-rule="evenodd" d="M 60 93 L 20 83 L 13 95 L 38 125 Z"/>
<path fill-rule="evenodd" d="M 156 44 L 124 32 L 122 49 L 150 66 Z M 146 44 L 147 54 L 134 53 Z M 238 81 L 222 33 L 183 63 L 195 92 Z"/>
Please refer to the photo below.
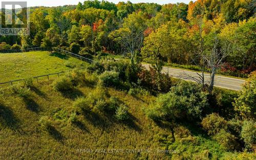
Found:
<path fill-rule="evenodd" d="M 52 86 L 55 90 L 59 92 L 69 92 L 74 89 L 71 80 L 67 77 L 60 77 L 56 79 L 52 83 Z"/>

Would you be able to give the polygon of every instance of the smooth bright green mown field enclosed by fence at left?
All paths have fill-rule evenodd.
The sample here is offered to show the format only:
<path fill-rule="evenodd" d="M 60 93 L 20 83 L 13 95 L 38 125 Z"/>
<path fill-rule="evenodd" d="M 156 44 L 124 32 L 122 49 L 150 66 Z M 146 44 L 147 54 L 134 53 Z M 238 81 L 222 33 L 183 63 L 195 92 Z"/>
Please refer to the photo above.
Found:
<path fill-rule="evenodd" d="M 83 67 L 87 63 L 74 57 L 47 51 L 0 54 L 0 82 L 51 74 Z"/>

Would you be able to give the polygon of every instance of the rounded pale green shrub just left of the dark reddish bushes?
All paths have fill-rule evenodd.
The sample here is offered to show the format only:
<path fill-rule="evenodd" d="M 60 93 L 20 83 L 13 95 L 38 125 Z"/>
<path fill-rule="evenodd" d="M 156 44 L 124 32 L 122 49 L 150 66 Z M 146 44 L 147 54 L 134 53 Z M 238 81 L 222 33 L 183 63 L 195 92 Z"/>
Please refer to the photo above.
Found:
<path fill-rule="evenodd" d="M 119 74 L 117 72 L 105 71 L 99 76 L 99 83 L 102 86 L 118 86 L 119 82 Z"/>

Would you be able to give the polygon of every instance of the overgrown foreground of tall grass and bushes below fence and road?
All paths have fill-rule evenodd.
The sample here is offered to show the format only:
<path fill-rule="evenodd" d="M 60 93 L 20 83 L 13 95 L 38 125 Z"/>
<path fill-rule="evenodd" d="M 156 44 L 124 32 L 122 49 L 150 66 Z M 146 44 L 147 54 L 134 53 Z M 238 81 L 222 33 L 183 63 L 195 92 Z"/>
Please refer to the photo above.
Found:
<path fill-rule="evenodd" d="M 32 155 L 38 159 L 255 156 L 255 122 L 250 114 L 240 117 L 239 109 L 234 110 L 237 93 L 218 88 L 209 93 L 195 83 L 161 79 L 166 75 L 154 68 L 146 71 L 140 65 L 135 67 L 129 62 L 100 60 L 54 81 L 38 84 L 26 80 L 25 85 L 0 90 L 0 156 L 9 157 L 10 152 L 12 157 L 22 154 L 25 159 Z M 223 110 L 225 106 L 227 110 Z M 235 114 L 225 117 L 229 110 Z M 10 143 L 13 147 L 6 147 Z M 26 152 L 14 152 L 24 144 L 28 146 Z M 55 149 L 49 150 L 52 146 Z M 144 148 L 152 152 L 80 152 L 97 148 Z"/>

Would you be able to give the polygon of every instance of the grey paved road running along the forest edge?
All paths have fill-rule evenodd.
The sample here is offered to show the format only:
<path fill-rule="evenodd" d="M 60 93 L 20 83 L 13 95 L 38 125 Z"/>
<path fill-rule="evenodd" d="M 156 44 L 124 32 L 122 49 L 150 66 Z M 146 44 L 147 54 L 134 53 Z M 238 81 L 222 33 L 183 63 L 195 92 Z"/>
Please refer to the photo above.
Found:
<path fill-rule="evenodd" d="M 146 68 L 149 67 L 149 64 L 143 64 Z M 187 70 L 181 70 L 177 68 L 172 68 L 172 67 L 163 67 L 163 73 L 168 73 L 170 76 L 173 76 L 175 78 L 181 78 L 184 80 L 190 80 L 194 81 L 191 78 L 188 78 L 189 75 L 191 77 L 198 77 L 197 72 L 192 72 L 192 71 L 187 71 Z M 199 73 L 200 74 L 200 73 Z M 205 82 L 209 82 L 210 80 L 210 75 L 205 74 Z M 224 77 L 224 76 L 215 76 L 215 86 L 221 87 L 221 88 L 226 88 L 226 89 L 231 89 L 231 90 L 241 90 L 242 89 L 242 84 L 245 82 L 245 80 L 242 79 L 236 79 L 236 78 L 229 78 L 229 77 Z"/>

